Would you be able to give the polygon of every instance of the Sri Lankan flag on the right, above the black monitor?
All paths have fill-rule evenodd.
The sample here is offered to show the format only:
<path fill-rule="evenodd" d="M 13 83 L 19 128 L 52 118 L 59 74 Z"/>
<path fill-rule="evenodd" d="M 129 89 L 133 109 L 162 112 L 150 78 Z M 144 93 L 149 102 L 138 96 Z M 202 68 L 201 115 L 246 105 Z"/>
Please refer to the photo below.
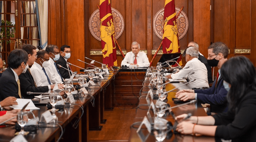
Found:
<path fill-rule="evenodd" d="M 178 28 L 174 0 L 165 0 L 164 4 L 164 28 L 163 28 L 163 53 L 180 52 Z M 181 55 L 177 61 L 180 65 Z M 177 66 L 175 64 L 174 66 Z"/>

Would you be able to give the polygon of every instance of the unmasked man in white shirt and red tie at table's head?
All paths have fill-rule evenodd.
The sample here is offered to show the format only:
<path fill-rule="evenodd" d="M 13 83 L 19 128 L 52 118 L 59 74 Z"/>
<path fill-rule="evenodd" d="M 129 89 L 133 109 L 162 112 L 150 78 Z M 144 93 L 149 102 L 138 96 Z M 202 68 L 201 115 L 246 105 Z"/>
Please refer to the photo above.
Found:
<path fill-rule="evenodd" d="M 124 60 L 121 63 L 122 65 L 137 65 L 138 67 L 148 67 L 150 65 L 148 61 L 148 56 L 144 52 L 140 52 L 140 44 L 136 41 L 132 42 L 132 51 L 128 52 Z"/>

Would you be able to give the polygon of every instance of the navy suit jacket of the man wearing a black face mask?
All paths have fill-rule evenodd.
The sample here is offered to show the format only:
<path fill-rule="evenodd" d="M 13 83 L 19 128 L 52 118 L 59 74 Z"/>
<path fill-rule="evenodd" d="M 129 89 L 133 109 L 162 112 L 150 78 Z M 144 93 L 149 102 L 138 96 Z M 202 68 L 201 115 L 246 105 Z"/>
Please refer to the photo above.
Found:
<path fill-rule="evenodd" d="M 195 90 L 197 93 L 197 100 L 201 103 L 211 104 L 211 112 L 227 112 L 228 101 L 227 101 L 227 90 L 223 86 L 223 78 L 221 78 L 215 87 L 216 79 L 214 80 L 212 87 L 208 89 Z"/>

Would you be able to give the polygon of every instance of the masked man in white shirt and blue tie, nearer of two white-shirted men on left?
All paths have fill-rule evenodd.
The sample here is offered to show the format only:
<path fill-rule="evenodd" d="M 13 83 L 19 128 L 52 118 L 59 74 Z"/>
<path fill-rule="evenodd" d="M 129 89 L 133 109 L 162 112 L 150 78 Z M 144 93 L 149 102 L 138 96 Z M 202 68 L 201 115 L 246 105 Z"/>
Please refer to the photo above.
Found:
<path fill-rule="evenodd" d="M 45 67 L 49 66 L 50 55 L 45 50 L 37 51 L 37 59 L 30 68 L 31 75 L 34 78 L 36 86 L 48 86 L 49 90 L 51 89 L 52 83 L 50 78 L 45 71 Z"/>

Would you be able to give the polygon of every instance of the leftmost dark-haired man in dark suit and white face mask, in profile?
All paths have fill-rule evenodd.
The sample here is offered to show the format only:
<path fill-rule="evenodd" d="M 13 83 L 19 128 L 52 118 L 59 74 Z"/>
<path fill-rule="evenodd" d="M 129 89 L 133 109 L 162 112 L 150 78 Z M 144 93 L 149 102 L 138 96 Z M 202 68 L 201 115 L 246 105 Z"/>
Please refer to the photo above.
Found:
<path fill-rule="evenodd" d="M 8 68 L 0 78 L 0 101 L 9 96 L 22 98 L 19 75 L 28 69 L 28 54 L 22 49 L 14 49 L 8 56 Z"/>

